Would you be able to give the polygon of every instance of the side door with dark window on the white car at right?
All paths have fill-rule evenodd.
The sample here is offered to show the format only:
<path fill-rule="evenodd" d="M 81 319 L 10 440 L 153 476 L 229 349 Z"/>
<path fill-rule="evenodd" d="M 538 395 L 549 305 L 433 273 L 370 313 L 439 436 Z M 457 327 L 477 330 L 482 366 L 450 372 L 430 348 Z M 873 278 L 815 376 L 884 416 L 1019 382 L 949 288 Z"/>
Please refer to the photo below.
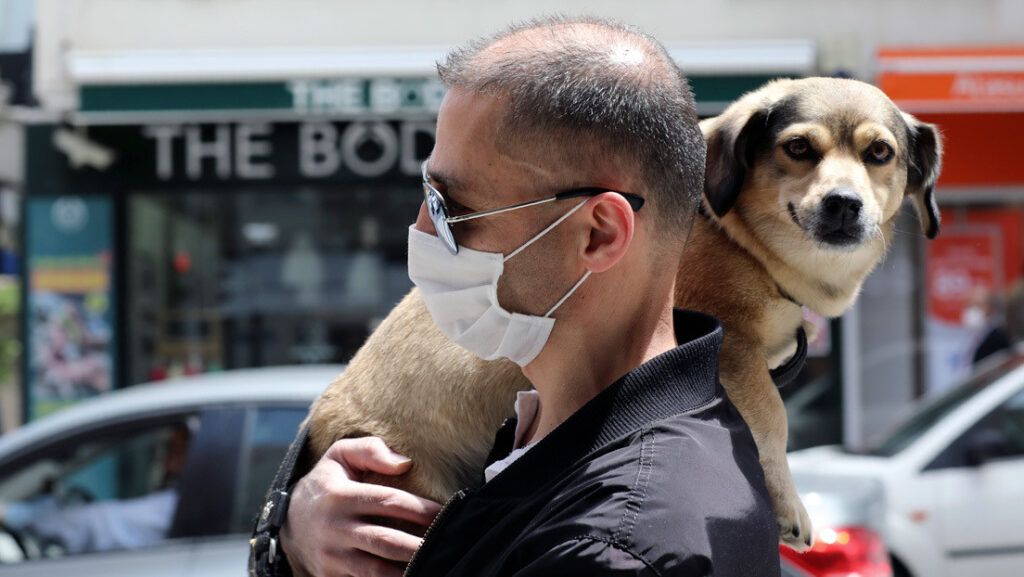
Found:
<path fill-rule="evenodd" d="M 1024 390 L 975 423 L 922 473 L 934 490 L 947 575 L 1024 568 Z"/>

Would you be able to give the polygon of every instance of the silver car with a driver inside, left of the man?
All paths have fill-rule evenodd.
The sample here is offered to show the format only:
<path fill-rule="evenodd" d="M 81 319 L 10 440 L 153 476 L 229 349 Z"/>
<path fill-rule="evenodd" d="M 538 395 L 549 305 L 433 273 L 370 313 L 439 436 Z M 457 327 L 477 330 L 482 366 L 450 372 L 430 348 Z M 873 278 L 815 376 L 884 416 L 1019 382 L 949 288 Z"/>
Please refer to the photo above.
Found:
<path fill-rule="evenodd" d="M 246 574 L 248 535 L 309 404 L 341 366 L 228 371 L 132 386 L 0 438 L 0 503 L 143 497 L 167 471 L 163 441 L 187 426 L 178 501 L 166 539 L 133 550 L 65 554 L 0 527 L 4 576 Z"/>

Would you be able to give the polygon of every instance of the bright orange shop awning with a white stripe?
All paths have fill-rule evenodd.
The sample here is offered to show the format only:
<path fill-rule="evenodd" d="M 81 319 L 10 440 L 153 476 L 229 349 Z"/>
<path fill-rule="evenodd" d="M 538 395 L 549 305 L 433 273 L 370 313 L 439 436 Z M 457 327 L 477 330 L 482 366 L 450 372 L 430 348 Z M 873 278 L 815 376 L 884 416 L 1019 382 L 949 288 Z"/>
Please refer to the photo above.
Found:
<path fill-rule="evenodd" d="M 883 48 L 878 66 L 908 112 L 1024 112 L 1024 46 Z"/>

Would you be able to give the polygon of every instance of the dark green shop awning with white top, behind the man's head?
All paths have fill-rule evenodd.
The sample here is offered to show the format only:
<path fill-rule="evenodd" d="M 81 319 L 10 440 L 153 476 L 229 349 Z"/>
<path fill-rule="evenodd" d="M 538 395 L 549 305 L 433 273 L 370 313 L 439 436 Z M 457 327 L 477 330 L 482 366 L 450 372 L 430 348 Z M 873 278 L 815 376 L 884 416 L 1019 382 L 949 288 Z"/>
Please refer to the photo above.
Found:
<path fill-rule="evenodd" d="M 743 92 L 816 69 L 811 40 L 679 43 L 698 112 L 716 114 Z M 443 87 L 445 47 L 72 51 L 82 124 L 300 120 L 310 116 L 430 116 Z"/>

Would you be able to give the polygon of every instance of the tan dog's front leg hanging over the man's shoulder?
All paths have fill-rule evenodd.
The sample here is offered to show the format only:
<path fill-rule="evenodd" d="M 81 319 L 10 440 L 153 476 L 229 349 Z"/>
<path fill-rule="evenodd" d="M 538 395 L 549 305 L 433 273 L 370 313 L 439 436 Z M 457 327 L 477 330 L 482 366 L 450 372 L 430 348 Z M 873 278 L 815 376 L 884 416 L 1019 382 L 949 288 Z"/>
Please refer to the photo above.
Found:
<path fill-rule="evenodd" d="M 739 335 L 727 336 L 722 348 L 722 385 L 754 435 L 778 522 L 779 540 L 803 550 L 813 542 L 811 520 L 790 473 L 785 407 L 767 364 L 755 355 L 761 349 L 759 343 L 744 342 Z"/>

